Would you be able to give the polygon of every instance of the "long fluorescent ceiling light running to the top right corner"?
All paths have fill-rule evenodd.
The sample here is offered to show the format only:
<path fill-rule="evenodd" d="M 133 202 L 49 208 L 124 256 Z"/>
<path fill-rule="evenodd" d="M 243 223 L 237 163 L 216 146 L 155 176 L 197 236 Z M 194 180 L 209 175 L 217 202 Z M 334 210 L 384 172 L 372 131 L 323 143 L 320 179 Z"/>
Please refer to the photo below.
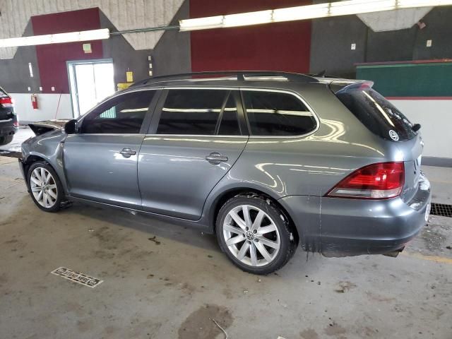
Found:
<path fill-rule="evenodd" d="M 348 16 L 359 13 L 393 11 L 400 8 L 426 6 L 448 6 L 452 0 L 348 0 L 325 4 L 269 9 L 248 13 L 230 14 L 179 20 L 180 30 L 205 30 L 227 28 L 261 23 L 275 23 L 291 20 L 326 18 L 328 16 Z"/>

